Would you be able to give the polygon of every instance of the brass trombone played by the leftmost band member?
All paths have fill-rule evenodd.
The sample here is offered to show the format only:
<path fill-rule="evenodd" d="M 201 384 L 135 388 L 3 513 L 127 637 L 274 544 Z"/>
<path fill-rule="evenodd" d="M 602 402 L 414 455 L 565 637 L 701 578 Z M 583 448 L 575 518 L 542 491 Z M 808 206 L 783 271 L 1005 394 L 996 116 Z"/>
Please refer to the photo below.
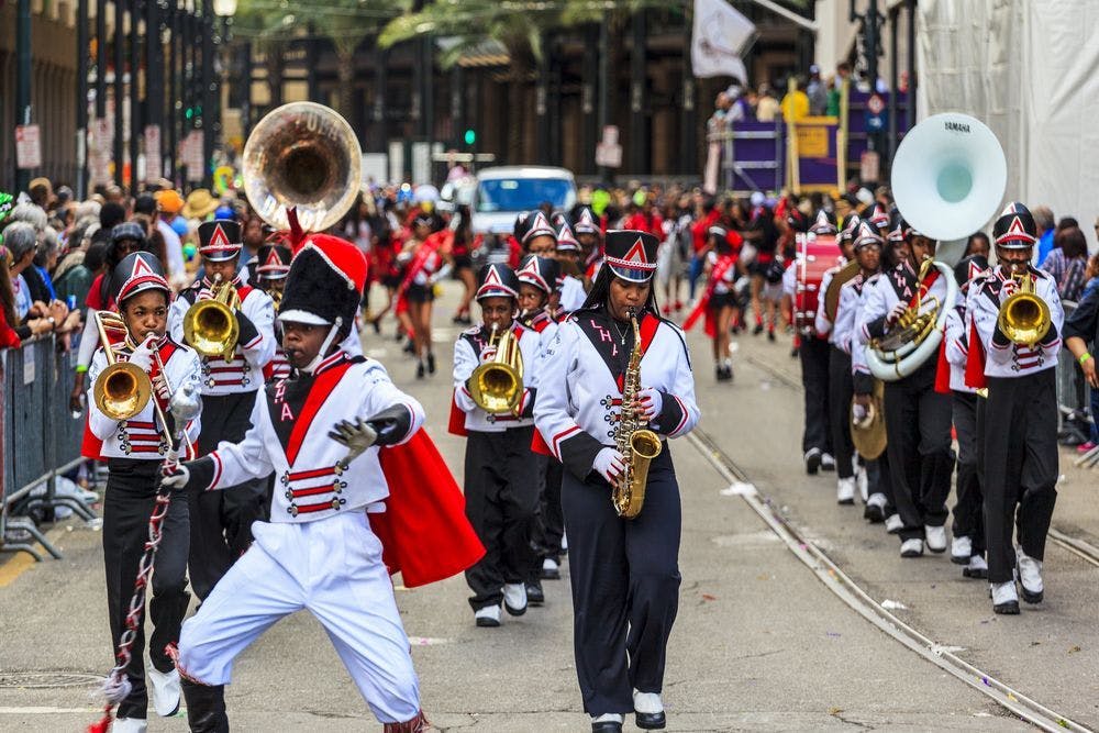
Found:
<path fill-rule="evenodd" d="M 96 407 L 108 418 L 123 421 L 140 414 L 152 399 L 153 413 L 159 421 L 157 430 L 167 442 L 168 448 L 174 448 L 171 437 L 168 435 L 168 421 L 165 418 L 164 410 L 160 408 L 160 403 L 153 399 L 153 380 L 149 379 L 149 376 L 141 367 L 130 362 L 119 362 L 114 354 L 114 347 L 108 336 L 109 331 L 121 334 L 126 348 L 133 351 L 137 347 L 137 344 L 134 343 L 133 334 L 126 327 L 125 321 L 118 313 L 99 311 L 96 313 L 96 327 L 99 330 L 99 338 L 103 344 L 103 353 L 107 355 L 107 368 L 96 378 L 96 384 L 92 385 L 92 398 L 96 401 Z M 168 382 L 168 375 L 164 369 L 164 362 L 160 360 L 160 354 L 154 351 L 153 358 L 156 359 L 156 366 L 165 387 L 167 387 L 169 393 L 173 392 L 171 385 Z M 186 430 L 181 427 L 180 430 L 184 442 L 189 451 L 191 448 L 190 438 L 187 437 Z"/>

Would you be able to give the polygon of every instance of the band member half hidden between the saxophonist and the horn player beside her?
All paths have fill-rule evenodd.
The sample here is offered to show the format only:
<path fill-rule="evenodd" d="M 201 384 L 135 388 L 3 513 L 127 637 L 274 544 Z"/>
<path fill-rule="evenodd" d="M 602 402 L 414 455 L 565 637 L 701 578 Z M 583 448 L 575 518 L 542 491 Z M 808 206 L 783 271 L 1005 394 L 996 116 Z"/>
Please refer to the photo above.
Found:
<path fill-rule="evenodd" d="M 564 232 L 565 229 L 562 229 Z M 558 240 L 558 243 L 560 240 Z M 550 301 L 556 291 L 559 262 L 528 255 L 515 271 L 519 278 L 519 320 L 539 334 L 539 360 L 557 335 L 557 321 L 550 313 Z M 541 364 L 524 368 L 541 369 Z M 560 578 L 560 541 L 565 534 L 565 519 L 560 512 L 560 464 L 546 460 L 545 482 L 542 488 L 541 510 L 534 532 L 534 542 L 541 553 L 542 564 L 535 564 L 526 582 L 526 601 L 542 606 L 545 595 L 542 580 Z"/>

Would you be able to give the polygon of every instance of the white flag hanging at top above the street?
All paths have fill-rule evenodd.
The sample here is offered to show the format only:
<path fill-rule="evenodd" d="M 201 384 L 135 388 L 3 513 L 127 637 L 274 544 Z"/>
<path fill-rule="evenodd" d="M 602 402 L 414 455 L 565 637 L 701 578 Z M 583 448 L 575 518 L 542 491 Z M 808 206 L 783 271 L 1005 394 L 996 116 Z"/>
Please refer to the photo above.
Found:
<path fill-rule="evenodd" d="M 695 0 L 690 63 L 695 76 L 731 76 L 747 84 L 741 53 L 755 34 L 755 24 L 725 0 Z"/>

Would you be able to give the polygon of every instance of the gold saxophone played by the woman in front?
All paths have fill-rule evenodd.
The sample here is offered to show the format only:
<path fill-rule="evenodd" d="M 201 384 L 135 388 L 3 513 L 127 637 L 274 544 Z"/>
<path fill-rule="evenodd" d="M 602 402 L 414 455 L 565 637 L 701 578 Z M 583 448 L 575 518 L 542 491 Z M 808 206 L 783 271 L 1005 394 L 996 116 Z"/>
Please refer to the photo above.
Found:
<path fill-rule="evenodd" d="M 633 406 L 641 391 L 642 354 L 641 329 L 632 309 L 630 321 L 633 324 L 633 352 L 630 353 L 630 364 L 622 385 L 622 410 L 614 434 L 614 445 L 623 456 L 625 470 L 618 477 L 611 492 L 614 511 L 626 519 L 641 513 L 645 503 L 645 485 L 648 484 L 648 465 L 663 449 L 659 436 L 646 427 L 647 423 L 641 420 Z"/>

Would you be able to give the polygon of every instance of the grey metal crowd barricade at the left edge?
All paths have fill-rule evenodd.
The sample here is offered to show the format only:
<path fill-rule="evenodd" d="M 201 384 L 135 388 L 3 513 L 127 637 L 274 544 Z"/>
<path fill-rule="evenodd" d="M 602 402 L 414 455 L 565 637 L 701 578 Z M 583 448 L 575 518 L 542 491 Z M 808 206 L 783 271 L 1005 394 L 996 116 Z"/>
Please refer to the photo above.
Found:
<path fill-rule="evenodd" d="M 80 464 L 82 415 L 68 410 L 76 349 L 58 353 L 53 336 L 36 338 L 21 348 L 0 351 L 3 389 L 3 487 L 0 502 L 0 552 L 26 552 L 41 560 L 37 542 L 57 559 L 62 554 L 25 517 L 13 517 L 12 507 L 45 486 L 33 503 L 65 506 L 84 519 L 95 514 L 79 500 L 56 496 L 57 477 Z M 31 542 L 31 541 L 34 542 Z"/>

